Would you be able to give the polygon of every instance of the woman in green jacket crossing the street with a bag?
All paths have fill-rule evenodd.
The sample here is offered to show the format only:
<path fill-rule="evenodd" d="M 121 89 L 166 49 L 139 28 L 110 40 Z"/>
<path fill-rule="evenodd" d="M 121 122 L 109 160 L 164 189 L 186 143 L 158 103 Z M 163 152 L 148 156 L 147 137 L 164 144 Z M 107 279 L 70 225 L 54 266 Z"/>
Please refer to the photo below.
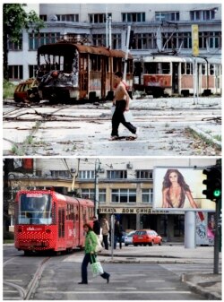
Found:
<path fill-rule="evenodd" d="M 82 260 L 82 281 L 78 284 L 88 284 L 88 273 L 87 273 L 87 267 L 89 263 L 91 262 L 91 256 L 94 258 L 97 256 L 95 251 L 95 248 L 97 246 L 97 236 L 91 229 L 91 226 L 89 223 L 85 223 L 83 225 L 83 229 L 86 233 L 85 236 L 85 255 Z M 103 272 L 100 274 L 100 276 L 103 279 L 107 280 L 107 283 L 109 282 L 110 274 L 108 272 Z"/>

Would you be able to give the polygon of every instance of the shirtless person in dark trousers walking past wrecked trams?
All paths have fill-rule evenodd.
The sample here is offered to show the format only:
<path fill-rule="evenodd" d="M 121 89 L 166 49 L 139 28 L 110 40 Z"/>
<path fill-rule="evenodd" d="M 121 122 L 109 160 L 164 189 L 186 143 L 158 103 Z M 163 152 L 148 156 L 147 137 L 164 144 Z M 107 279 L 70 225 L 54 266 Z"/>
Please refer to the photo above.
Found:
<path fill-rule="evenodd" d="M 137 137 L 136 131 L 137 128 L 129 122 L 125 121 L 124 112 L 129 110 L 129 101 L 130 97 L 128 92 L 126 91 L 125 83 L 122 82 L 123 73 L 116 72 L 115 73 L 115 82 L 116 82 L 116 91 L 115 97 L 113 99 L 113 105 L 116 106 L 115 112 L 112 116 L 112 132 L 110 141 L 116 140 L 118 135 L 118 127 L 121 124 L 125 125 L 125 127 L 134 134 L 134 137 Z"/>

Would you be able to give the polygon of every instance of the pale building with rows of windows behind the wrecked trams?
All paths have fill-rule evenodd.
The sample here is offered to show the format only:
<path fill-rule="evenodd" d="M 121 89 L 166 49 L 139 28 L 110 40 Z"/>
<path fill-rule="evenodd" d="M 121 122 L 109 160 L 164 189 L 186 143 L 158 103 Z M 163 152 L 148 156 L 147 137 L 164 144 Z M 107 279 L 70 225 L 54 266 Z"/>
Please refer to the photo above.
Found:
<path fill-rule="evenodd" d="M 73 36 L 95 46 L 125 50 L 127 27 L 134 59 L 151 53 L 192 55 L 192 25 L 199 28 L 199 54 L 221 56 L 221 4 L 31 4 L 46 27 L 24 30 L 9 43 L 11 81 L 35 76 L 37 49 Z"/>

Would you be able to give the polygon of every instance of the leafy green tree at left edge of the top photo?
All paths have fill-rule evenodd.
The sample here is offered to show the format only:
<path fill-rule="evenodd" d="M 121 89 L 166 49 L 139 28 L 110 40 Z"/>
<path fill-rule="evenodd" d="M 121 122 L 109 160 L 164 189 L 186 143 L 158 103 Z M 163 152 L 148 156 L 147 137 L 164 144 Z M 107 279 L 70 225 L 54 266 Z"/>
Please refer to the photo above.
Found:
<path fill-rule="evenodd" d="M 19 43 L 22 30 L 32 28 L 39 32 L 44 27 L 44 22 L 34 11 L 26 13 L 23 6 L 26 4 L 3 5 L 3 51 L 4 51 L 4 80 L 9 79 L 8 74 L 8 45 L 9 40 Z"/>

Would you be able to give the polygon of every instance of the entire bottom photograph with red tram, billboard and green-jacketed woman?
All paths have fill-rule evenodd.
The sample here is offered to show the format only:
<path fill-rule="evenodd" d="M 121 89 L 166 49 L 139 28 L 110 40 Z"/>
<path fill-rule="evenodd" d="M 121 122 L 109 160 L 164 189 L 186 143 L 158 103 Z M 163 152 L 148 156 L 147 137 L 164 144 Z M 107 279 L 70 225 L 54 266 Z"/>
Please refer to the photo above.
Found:
<path fill-rule="evenodd" d="M 4 299 L 221 299 L 220 158 L 3 165 Z"/>

